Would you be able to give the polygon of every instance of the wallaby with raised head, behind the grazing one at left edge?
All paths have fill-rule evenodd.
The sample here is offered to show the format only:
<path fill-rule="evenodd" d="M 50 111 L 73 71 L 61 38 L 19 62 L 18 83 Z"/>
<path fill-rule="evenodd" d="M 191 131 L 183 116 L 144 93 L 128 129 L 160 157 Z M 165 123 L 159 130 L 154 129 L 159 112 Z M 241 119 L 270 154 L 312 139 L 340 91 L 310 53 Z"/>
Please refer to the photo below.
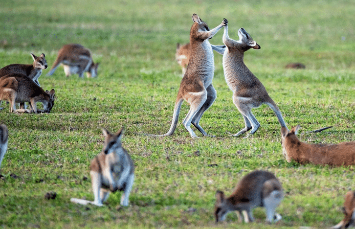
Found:
<path fill-rule="evenodd" d="M 32 65 L 12 64 L 5 66 L 0 69 L 0 77 L 11 73 L 20 73 L 27 75 L 38 86 L 41 86 L 38 82 L 38 78 L 42 74 L 42 69 L 46 69 L 48 67 L 47 61 L 45 60 L 44 53 L 40 56 L 35 56 L 31 53 L 31 56 L 33 58 Z"/>

